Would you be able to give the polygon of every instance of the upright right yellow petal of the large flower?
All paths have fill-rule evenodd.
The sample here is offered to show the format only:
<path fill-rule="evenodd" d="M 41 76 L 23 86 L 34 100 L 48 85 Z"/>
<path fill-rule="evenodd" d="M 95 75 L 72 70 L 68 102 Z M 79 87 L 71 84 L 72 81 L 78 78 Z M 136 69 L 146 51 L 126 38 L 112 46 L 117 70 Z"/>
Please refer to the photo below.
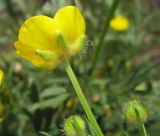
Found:
<path fill-rule="evenodd" d="M 85 33 L 85 21 L 81 12 L 74 6 L 58 10 L 54 20 L 69 44 L 72 44 Z"/>

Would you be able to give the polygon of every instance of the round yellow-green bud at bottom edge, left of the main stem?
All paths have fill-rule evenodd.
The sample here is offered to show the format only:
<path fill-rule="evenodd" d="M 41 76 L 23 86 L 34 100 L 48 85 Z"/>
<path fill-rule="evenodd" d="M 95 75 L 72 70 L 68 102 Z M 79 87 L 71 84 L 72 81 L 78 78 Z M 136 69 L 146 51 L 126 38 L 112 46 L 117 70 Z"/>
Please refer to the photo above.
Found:
<path fill-rule="evenodd" d="M 65 120 L 64 132 L 66 136 L 80 136 L 85 133 L 85 122 L 78 115 L 71 116 Z"/>

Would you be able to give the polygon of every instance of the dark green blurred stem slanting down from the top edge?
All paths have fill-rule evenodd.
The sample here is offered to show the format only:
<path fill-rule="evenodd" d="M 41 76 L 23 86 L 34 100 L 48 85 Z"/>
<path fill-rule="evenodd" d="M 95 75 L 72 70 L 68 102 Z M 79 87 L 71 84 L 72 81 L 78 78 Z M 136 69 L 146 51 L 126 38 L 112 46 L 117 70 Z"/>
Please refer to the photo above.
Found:
<path fill-rule="evenodd" d="M 108 17 L 106 18 L 104 28 L 102 29 L 102 33 L 100 34 L 100 38 L 99 38 L 98 44 L 96 46 L 91 73 L 94 71 L 94 69 L 97 65 L 97 61 L 98 61 L 98 57 L 99 57 L 99 54 L 100 54 L 100 51 L 101 51 L 101 48 L 102 48 L 102 44 L 103 44 L 105 35 L 106 35 L 106 33 L 108 31 L 108 28 L 109 28 L 109 22 L 114 15 L 114 12 L 115 12 L 115 10 L 118 6 L 118 3 L 119 3 L 119 0 L 113 0 L 112 6 L 109 10 Z"/>

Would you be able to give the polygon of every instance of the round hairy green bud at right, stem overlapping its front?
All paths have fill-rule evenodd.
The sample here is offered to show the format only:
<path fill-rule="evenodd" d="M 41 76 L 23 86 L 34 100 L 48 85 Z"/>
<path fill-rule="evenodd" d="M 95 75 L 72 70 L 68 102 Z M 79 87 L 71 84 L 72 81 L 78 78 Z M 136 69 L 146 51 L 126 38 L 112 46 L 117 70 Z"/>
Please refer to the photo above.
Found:
<path fill-rule="evenodd" d="M 144 123 L 145 121 L 147 121 L 149 114 L 147 107 L 136 100 L 133 100 L 124 106 L 123 115 L 125 119 L 130 123 L 136 124 L 137 123 L 137 117 L 135 113 L 136 109 L 139 112 L 142 122 Z"/>

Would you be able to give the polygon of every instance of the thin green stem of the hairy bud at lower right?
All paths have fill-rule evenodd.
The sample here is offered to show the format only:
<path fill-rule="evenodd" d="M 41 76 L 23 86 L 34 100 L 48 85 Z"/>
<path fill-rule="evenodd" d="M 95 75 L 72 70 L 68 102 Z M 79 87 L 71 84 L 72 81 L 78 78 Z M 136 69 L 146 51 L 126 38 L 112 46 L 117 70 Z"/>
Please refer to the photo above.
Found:
<path fill-rule="evenodd" d="M 146 132 L 145 126 L 142 123 L 140 114 L 139 114 L 137 109 L 135 109 L 135 113 L 136 113 L 136 118 L 137 118 L 137 122 L 138 122 L 139 135 L 140 136 L 147 136 L 147 132 Z"/>

